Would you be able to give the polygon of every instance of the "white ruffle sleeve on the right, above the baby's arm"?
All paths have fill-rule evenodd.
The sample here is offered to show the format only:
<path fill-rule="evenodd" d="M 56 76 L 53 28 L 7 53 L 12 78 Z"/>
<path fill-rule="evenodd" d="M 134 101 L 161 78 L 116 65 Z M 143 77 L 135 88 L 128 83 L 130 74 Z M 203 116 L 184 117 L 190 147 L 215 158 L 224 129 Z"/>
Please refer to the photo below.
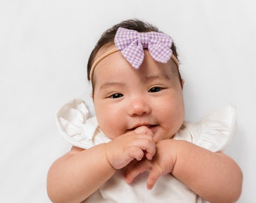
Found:
<path fill-rule="evenodd" d="M 180 139 L 185 139 L 200 147 L 219 152 L 224 150 L 236 132 L 236 109 L 227 105 L 203 117 L 199 123 L 184 123 L 184 130 L 178 133 Z M 188 132 L 187 132 L 188 131 Z"/>

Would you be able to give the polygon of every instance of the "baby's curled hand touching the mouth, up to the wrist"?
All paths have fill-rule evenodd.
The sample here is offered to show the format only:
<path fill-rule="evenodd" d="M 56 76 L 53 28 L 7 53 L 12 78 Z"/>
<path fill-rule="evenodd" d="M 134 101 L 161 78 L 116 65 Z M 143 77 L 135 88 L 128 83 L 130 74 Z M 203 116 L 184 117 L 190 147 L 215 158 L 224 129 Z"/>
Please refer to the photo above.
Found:
<path fill-rule="evenodd" d="M 115 169 L 123 168 L 133 159 L 142 160 L 144 156 L 151 160 L 156 153 L 153 133 L 146 126 L 141 126 L 108 142 L 105 153 Z"/>

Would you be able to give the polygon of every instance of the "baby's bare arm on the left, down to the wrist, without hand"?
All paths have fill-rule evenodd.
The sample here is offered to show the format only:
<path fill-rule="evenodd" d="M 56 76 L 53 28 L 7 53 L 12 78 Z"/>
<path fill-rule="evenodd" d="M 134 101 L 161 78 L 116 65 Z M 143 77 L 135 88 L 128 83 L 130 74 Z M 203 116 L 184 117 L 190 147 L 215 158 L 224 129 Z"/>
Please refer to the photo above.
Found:
<path fill-rule="evenodd" d="M 81 202 L 115 172 L 105 155 L 105 144 L 88 150 L 72 147 L 50 167 L 47 192 L 53 202 Z"/>

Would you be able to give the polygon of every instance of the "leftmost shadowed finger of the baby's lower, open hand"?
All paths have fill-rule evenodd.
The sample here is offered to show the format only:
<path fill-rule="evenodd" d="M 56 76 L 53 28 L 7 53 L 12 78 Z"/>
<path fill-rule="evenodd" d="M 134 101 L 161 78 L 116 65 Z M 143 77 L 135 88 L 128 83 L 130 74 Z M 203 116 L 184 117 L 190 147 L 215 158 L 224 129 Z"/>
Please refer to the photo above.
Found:
<path fill-rule="evenodd" d="M 140 162 L 136 162 L 133 165 L 130 165 L 129 168 L 126 169 L 126 183 L 131 183 L 135 177 L 137 177 L 139 174 L 144 173 L 145 171 L 150 170 L 151 163 L 148 162 L 147 159 L 144 159 Z"/>

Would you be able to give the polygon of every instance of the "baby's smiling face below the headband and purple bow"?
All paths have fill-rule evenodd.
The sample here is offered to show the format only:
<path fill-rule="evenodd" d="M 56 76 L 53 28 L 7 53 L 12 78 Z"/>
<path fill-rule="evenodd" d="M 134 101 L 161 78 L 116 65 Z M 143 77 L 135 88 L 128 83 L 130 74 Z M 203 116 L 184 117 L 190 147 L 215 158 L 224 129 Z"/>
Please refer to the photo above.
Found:
<path fill-rule="evenodd" d="M 145 50 L 136 70 L 120 52 L 113 53 L 99 62 L 93 81 L 96 117 L 108 138 L 147 126 L 154 141 L 160 141 L 171 138 L 184 121 L 182 88 L 172 59 L 162 64 Z"/>

